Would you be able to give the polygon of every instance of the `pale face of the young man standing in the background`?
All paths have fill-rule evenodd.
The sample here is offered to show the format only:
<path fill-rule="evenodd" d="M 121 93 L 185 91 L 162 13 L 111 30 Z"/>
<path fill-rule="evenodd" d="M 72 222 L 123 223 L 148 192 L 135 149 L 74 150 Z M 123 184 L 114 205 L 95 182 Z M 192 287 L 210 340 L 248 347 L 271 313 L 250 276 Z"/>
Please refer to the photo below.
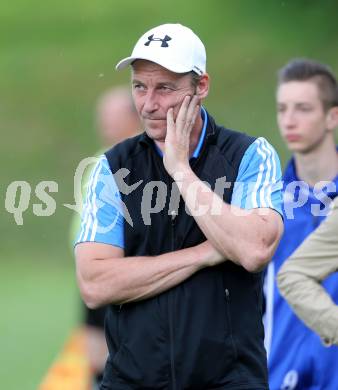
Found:
<path fill-rule="evenodd" d="M 294 153 L 309 153 L 327 137 L 327 113 L 312 81 L 290 81 L 277 90 L 277 121 L 283 139 Z"/>

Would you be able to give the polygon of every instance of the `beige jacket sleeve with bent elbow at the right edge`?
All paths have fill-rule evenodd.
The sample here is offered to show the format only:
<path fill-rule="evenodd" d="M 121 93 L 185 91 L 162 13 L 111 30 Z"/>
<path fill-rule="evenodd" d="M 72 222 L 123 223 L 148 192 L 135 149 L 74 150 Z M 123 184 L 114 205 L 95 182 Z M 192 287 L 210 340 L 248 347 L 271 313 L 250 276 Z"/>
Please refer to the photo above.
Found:
<path fill-rule="evenodd" d="M 324 344 L 338 345 L 338 306 L 320 282 L 338 271 L 338 198 L 332 212 L 283 264 L 277 284 L 281 294 Z"/>

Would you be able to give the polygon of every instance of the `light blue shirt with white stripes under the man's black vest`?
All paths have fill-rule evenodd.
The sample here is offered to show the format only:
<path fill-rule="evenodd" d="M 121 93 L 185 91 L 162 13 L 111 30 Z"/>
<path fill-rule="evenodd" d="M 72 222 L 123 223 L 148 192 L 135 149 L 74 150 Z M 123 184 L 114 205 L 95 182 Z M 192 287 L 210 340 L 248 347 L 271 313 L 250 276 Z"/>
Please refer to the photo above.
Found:
<path fill-rule="evenodd" d="M 207 115 L 202 108 L 203 128 L 192 155 L 197 158 L 204 142 Z M 231 204 L 242 209 L 268 207 L 281 210 L 281 168 L 277 153 L 264 139 L 258 138 L 246 150 L 234 185 Z M 124 248 L 123 224 L 128 210 L 102 155 L 93 169 L 82 213 L 80 233 L 76 243 L 99 242 Z"/>

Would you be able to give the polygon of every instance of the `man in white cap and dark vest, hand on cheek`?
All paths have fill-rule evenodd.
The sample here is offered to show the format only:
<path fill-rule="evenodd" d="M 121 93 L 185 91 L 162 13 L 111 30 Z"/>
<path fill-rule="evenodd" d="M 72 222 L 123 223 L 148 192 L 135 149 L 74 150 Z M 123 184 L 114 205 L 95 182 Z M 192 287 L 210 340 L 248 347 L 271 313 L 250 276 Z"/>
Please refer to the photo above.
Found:
<path fill-rule="evenodd" d="M 108 304 L 101 389 L 268 389 L 261 271 L 283 230 L 274 149 L 217 125 L 206 54 L 187 27 L 132 55 L 145 132 L 93 171 L 76 245 L 89 307 Z"/>

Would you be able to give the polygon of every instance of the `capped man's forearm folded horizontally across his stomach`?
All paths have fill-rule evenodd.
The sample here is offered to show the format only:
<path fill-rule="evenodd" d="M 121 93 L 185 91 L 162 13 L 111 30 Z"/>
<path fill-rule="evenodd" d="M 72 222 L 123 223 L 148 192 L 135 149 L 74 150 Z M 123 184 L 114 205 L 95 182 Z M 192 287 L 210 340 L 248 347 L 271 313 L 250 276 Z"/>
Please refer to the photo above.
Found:
<path fill-rule="evenodd" d="M 150 298 L 222 261 L 222 256 L 207 241 L 154 257 L 81 259 L 78 253 L 77 258 L 80 289 L 92 308 Z"/>

